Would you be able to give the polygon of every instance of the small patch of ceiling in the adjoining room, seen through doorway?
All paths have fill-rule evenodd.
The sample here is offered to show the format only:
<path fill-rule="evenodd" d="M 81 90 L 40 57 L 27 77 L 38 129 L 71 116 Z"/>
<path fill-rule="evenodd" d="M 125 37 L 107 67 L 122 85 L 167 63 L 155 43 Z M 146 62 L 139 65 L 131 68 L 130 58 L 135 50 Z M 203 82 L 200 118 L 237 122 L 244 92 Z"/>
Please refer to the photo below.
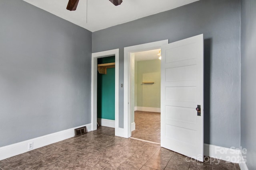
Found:
<path fill-rule="evenodd" d="M 156 50 L 149 50 L 149 51 L 141 51 L 134 53 L 134 60 L 135 61 L 142 61 L 142 60 L 156 60 L 159 58 L 157 55 L 161 49 Z"/>

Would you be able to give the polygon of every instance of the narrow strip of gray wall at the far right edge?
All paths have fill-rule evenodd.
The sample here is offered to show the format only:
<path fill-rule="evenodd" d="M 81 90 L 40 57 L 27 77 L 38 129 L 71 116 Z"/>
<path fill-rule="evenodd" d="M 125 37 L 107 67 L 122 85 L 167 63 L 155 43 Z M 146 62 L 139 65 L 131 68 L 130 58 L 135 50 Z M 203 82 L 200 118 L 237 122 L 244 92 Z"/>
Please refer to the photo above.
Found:
<path fill-rule="evenodd" d="M 250 170 L 256 168 L 256 1 L 241 1 L 241 146 Z"/>

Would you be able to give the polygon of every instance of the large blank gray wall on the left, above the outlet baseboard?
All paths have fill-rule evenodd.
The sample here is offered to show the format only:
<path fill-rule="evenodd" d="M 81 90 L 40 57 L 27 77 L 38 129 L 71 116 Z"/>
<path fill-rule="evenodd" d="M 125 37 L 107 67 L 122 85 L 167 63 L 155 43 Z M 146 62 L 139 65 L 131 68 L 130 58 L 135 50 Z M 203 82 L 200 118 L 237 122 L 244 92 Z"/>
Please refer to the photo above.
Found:
<path fill-rule="evenodd" d="M 0 147 L 91 122 L 92 33 L 0 0 Z"/>

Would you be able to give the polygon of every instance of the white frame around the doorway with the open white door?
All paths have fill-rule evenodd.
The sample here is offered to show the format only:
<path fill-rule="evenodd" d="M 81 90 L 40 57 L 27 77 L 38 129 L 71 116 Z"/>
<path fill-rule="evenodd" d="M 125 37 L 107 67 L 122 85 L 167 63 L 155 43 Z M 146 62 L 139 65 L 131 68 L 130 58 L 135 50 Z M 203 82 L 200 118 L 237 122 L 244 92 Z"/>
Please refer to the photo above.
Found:
<path fill-rule="evenodd" d="M 131 111 L 134 110 L 130 108 L 131 96 L 131 58 L 132 53 L 140 51 L 148 51 L 154 49 L 160 49 L 162 45 L 168 44 L 168 39 L 162 41 L 155 41 L 152 43 L 145 43 L 140 45 L 134 45 L 130 47 L 124 47 L 124 137 L 129 138 L 132 136 L 131 131 Z M 134 84 L 133 84 L 134 86 Z M 135 129 L 135 126 L 134 126 Z"/>

